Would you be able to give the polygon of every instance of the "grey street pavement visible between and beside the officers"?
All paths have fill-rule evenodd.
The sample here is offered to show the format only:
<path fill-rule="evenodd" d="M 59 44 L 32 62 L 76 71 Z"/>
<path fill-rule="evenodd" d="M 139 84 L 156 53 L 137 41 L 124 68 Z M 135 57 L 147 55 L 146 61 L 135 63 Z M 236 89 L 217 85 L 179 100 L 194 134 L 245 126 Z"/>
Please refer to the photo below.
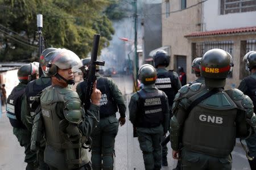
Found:
<path fill-rule="evenodd" d="M 130 76 L 115 76 L 113 77 L 119 89 L 125 96 L 125 102 L 128 107 L 130 96 L 133 92 L 133 80 Z M 6 117 L 6 112 L 3 108 L 2 116 L 0 117 L 0 170 L 9 169 L 25 169 L 26 163 L 24 160 L 24 148 L 19 146 L 16 137 L 13 135 L 13 128 Z M 119 114 L 117 113 L 119 118 Z M 133 138 L 133 127 L 129 121 L 129 111 L 126 111 L 126 124 L 119 126 L 117 138 L 115 139 L 115 169 L 144 169 L 143 156 L 139 148 L 137 138 Z M 247 162 L 245 152 L 240 143 L 236 142 L 236 147 L 232 152 L 234 170 L 250 169 Z M 162 169 L 173 169 L 176 167 L 176 160 L 172 159 L 171 146 L 168 143 L 168 167 Z"/>

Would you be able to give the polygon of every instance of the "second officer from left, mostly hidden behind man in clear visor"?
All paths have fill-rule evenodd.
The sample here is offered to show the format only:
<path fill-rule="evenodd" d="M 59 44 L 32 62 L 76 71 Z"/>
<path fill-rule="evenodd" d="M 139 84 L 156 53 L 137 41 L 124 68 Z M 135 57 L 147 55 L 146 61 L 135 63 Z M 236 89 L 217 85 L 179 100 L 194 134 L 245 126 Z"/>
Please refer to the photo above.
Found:
<path fill-rule="evenodd" d="M 24 125 L 27 129 L 32 131 L 32 117 L 35 116 L 35 108 L 32 108 L 32 103 L 35 101 L 35 96 L 38 95 L 44 88 L 51 86 L 51 78 L 46 76 L 46 64 L 51 60 L 51 57 L 48 57 L 48 54 L 57 50 L 57 48 L 47 48 L 43 50 L 39 62 L 40 67 L 42 68 L 43 75 L 39 79 L 33 80 L 28 83 L 26 87 L 26 95 L 24 99 L 24 107 L 22 109 L 22 117 L 24 119 Z M 34 103 L 35 104 L 35 103 Z M 44 147 L 46 145 L 45 139 L 42 138 L 41 147 L 38 150 L 38 162 L 40 169 L 48 169 L 48 165 L 44 163 Z"/>

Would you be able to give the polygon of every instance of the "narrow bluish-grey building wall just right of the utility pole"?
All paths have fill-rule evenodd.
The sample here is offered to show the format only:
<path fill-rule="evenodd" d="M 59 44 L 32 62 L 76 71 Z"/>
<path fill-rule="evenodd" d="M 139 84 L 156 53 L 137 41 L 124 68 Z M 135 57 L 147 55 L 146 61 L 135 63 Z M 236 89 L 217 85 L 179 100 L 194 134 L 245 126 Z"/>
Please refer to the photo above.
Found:
<path fill-rule="evenodd" d="M 143 22 L 143 48 L 144 58 L 148 58 L 148 54 L 162 46 L 162 20 L 161 3 L 144 4 L 143 6 L 144 22 Z"/>

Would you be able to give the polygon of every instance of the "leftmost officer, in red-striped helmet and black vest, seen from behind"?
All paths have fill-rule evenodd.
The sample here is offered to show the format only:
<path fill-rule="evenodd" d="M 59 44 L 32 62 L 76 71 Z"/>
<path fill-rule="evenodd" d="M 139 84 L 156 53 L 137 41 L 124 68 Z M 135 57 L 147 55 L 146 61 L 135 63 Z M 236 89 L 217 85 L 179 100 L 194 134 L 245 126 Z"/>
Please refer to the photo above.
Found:
<path fill-rule="evenodd" d="M 11 94 L 7 98 L 6 116 L 9 117 L 11 126 L 13 126 L 13 134 L 18 139 L 20 146 L 25 147 L 25 160 L 27 163 L 26 169 L 37 169 L 36 154 L 30 151 L 31 133 L 24 125 L 24 120 L 21 116 L 22 107 L 24 105 L 23 95 L 27 83 L 36 79 L 38 75 L 38 67 L 32 63 L 23 65 L 18 70 L 18 86 L 13 88 Z"/>

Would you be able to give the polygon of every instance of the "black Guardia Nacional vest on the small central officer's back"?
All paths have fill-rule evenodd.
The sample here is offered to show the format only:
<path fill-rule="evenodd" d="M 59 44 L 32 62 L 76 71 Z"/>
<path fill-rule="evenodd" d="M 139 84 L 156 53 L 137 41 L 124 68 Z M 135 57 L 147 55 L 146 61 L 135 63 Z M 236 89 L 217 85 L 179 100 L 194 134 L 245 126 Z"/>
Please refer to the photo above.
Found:
<path fill-rule="evenodd" d="M 136 117 L 136 127 L 154 128 L 162 124 L 166 107 L 166 97 L 162 91 L 155 89 L 153 92 L 140 90 L 137 92 L 139 112 Z"/>

